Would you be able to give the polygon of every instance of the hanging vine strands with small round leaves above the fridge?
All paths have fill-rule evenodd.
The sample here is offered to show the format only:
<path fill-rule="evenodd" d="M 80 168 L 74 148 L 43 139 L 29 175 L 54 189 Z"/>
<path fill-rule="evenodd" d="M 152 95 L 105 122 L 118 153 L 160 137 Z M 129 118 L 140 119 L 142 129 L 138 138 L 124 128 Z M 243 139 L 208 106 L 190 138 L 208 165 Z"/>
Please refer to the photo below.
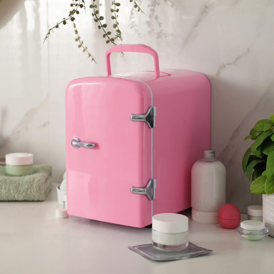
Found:
<path fill-rule="evenodd" d="M 89 5 L 89 8 L 92 9 L 92 16 L 94 17 L 94 22 L 98 23 L 98 29 L 102 30 L 103 38 L 106 39 L 106 43 L 112 43 L 113 45 L 117 45 L 116 42 L 123 40 L 122 33 L 119 28 L 119 22 L 118 22 L 118 12 L 119 12 L 119 7 L 121 4 L 118 3 L 116 0 L 112 1 L 112 8 L 110 9 L 110 12 L 112 14 L 111 19 L 113 20 L 112 27 L 115 29 L 115 34 L 113 35 L 113 33 L 109 30 L 108 25 L 106 23 L 102 22 L 104 20 L 104 17 L 100 15 L 99 8 L 98 8 L 96 1 L 97 0 L 92 0 L 92 4 Z M 140 6 L 136 3 L 136 1 L 129 0 L 129 2 L 133 3 L 134 9 L 136 9 L 137 11 L 141 11 L 141 13 L 144 13 L 142 11 L 142 9 L 140 8 Z M 86 11 L 85 0 L 72 0 L 70 7 L 71 7 L 71 10 L 69 11 L 68 16 L 64 17 L 60 22 L 57 22 L 54 27 L 49 29 L 49 31 L 44 39 L 44 43 L 45 43 L 45 41 L 47 41 L 47 39 L 49 38 L 51 33 L 54 32 L 54 29 L 59 29 L 60 25 L 62 25 L 62 24 L 67 25 L 67 23 L 68 23 L 67 21 L 72 21 L 73 22 L 72 26 L 74 29 L 74 33 L 76 35 L 76 37 L 74 39 L 78 43 L 78 48 L 81 48 L 82 51 L 84 53 L 87 53 L 88 57 L 91 57 L 91 60 L 96 63 L 94 57 L 88 51 L 87 47 L 84 45 L 83 40 L 79 36 L 78 29 L 77 29 L 76 23 L 75 23 L 76 17 L 77 17 L 77 15 L 80 14 L 80 11 L 82 12 L 82 9 L 84 9 L 84 11 Z"/>

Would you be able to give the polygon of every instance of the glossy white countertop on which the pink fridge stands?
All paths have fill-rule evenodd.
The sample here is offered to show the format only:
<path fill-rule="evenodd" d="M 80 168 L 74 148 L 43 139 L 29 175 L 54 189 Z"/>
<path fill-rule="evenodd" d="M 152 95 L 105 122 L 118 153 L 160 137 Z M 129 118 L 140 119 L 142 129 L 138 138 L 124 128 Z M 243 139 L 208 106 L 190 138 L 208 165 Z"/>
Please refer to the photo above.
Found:
<path fill-rule="evenodd" d="M 151 242 L 151 229 L 69 216 L 55 217 L 56 184 L 43 202 L 1 202 L 0 273 L 266 273 L 274 238 L 243 239 L 236 229 L 195 223 L 189 241 L 213 252 L 179 261 L 150 261 L 128 249 Z M 242 215 L 246 219 L 246 215 Z"/>

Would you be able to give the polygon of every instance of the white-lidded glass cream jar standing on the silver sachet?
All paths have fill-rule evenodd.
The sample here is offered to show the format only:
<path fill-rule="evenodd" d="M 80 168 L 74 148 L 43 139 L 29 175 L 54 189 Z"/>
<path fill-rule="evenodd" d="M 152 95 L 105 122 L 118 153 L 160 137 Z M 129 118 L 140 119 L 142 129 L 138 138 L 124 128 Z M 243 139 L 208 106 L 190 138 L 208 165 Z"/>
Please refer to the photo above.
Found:
<path fill-rule="evenodd" d="M 152 217 L 152 245 L 161 250 L 178 251 L 188 247 L 188 217 L 160 213 Z"/>

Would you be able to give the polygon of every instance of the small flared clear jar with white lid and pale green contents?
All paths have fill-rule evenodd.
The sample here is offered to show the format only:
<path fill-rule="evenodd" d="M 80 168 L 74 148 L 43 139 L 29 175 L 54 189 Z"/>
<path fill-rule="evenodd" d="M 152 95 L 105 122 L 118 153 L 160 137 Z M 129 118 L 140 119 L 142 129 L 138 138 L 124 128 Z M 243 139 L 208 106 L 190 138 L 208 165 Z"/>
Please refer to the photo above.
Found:
<path fill-rule="evenodd" d="M 267 234 L 268 229 L 263 222 L 247 220 L 241 222 L 237 227 L 237 231 L 243 238 L 256 241 L 263 238 Z"/>

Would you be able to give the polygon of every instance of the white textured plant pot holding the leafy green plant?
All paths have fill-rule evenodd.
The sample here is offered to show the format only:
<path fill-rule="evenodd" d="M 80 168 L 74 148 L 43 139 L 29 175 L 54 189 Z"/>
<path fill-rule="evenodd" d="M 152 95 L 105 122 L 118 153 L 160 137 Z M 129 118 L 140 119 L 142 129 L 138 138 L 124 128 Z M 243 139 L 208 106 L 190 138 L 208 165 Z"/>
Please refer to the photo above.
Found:
<path fill-rule="evenodd" d="M 274 193 L 263 194 L 263 223 L 269 229 L 268 235 L 274 237 Z"/>

